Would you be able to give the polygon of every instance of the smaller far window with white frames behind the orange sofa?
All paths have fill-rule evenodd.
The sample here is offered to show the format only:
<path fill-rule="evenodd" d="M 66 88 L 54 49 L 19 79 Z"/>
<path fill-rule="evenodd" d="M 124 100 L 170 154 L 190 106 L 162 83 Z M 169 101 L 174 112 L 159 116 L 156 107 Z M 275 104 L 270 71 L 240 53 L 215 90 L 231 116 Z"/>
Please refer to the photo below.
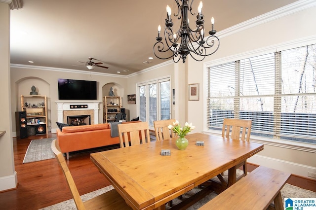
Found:
<path fill-rule="evenodd" d="M 149 126 L 154 126 L 156 120 L 170 119 L 170 86 L 169 77 L 138 84 L 139 104 L 136 104 L 141 121 L 147 121 Z"/>

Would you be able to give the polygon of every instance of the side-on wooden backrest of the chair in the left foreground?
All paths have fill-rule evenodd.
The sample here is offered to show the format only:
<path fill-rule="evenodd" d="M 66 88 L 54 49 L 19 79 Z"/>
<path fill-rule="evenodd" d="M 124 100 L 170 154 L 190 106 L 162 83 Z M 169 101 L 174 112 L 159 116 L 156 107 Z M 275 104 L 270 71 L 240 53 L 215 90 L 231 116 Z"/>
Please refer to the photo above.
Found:
<path fill-rule="evenodd" d="M 64 158 L 63 154 L 61 153 L 59 145 L 58 145 L 56 140 L 53 140 L 51 142 L 51 149 L 53 150 L 55 157 L 56 157 L 59 165 L 61 166 L 61 169 L 63 170 L 63 173 L 66 177 L 68 186 L 69 186 L 70 191 L 73 195 L 77 209 L 78 210 L 85 210 L 85 207 L 84 207 L 83 202 L 80 198 L 80 195 L 79 195 L 77 186 L 75 184 L 75 181 L 73 179 L 73 176 L 70 174 L 70 171 L 69 171 L 69 168 L 68 168 L 67 163 L 65 161 L 65 158 Z"/>

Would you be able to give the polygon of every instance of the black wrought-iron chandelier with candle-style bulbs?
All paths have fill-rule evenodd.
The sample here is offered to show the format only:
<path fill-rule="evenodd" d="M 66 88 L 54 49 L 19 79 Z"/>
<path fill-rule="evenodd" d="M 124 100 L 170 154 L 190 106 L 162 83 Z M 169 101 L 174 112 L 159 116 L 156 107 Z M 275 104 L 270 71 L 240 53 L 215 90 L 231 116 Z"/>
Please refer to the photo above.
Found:
<path fill-rule="evenodd" d="M 192 13 L 192 3 L 194 0 L 175 0 L 178 6 L 177 14 L 174 16 L 181 20 L 181 25 L 178 31 L 172 29 L 173 22 L 171 19 L 171 8 L 167 5 L 167 18 L 165 19 L 164 41 L 160 36 L 161 27 L 158 26 L 157 42 L 154 44 L 154 54 L 159 59 L 169 59 L 173 57 L 173 61 L 178 63 L 182 59 L 186 62 L 187 55 L 196 61 L 202 61 L 205 56 L 212 55 L 219 48 L 219 39 L 215 36 L 214 18 L 211 19 L 211 31 L 209 36 L 204 37 L 204 15 L 202 14 L 202 1 L 197 8 L 197 20 L 195 28 L 190 28 L 188 14 L 195 16 Z M 180 4 L 181 3 L 181 4 Z M 190 5 L 190 6 L 189 6 Z M 169 54 L 167 53 L 169 52 Z M 171 53 L 171 56 L 170 56 Z"/>

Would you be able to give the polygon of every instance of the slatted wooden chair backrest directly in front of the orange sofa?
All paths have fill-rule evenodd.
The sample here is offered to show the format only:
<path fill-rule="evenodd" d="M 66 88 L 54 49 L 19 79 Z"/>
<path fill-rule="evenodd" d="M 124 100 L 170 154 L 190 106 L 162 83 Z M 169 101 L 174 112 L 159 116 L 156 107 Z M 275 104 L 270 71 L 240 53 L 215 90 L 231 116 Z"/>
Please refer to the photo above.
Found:
<path fill-rule="evenodd" d="M 118 124 L 120 147 L 150 142 L 149 126 L 147 122 Z"/>

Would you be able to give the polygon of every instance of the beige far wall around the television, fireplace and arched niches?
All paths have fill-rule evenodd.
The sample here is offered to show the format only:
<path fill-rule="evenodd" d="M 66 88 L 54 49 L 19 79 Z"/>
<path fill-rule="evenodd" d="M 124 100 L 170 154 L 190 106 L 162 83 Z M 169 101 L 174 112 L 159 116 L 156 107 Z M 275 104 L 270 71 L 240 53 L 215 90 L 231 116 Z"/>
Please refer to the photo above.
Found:
<path fill-rule="evenodd" d="M 56 70 L 52 68 L 11 67 L 11 109 L 12 115 L 20 111 L 20 95 L 29 95 L 32 85 L 36 86 L 40 95 L 46 95 L 48 107 L 48 130 L 55 133 L 57 128 L 58 79 L 79 79 L 97 81 L 97 101 L 99 104 L 99 123 L 103 123 L 102 97 L 108 96 L 110 87 L 113 87 L 117 96 L 126 98 L 124 90 L 127 87 L 127 78 L 106 74 L 93 74 L 74 70 Z M 123 100 L 124 101 L 124 100 Z M 126 101 L 126 100 L 125 100 Z M 66 101 L 65 101 L 66 102 Z M 74 102 L 74 101 L 73 101 Z M 15 132 L 15 119 L 12 120 L 13 132 Z"/>

